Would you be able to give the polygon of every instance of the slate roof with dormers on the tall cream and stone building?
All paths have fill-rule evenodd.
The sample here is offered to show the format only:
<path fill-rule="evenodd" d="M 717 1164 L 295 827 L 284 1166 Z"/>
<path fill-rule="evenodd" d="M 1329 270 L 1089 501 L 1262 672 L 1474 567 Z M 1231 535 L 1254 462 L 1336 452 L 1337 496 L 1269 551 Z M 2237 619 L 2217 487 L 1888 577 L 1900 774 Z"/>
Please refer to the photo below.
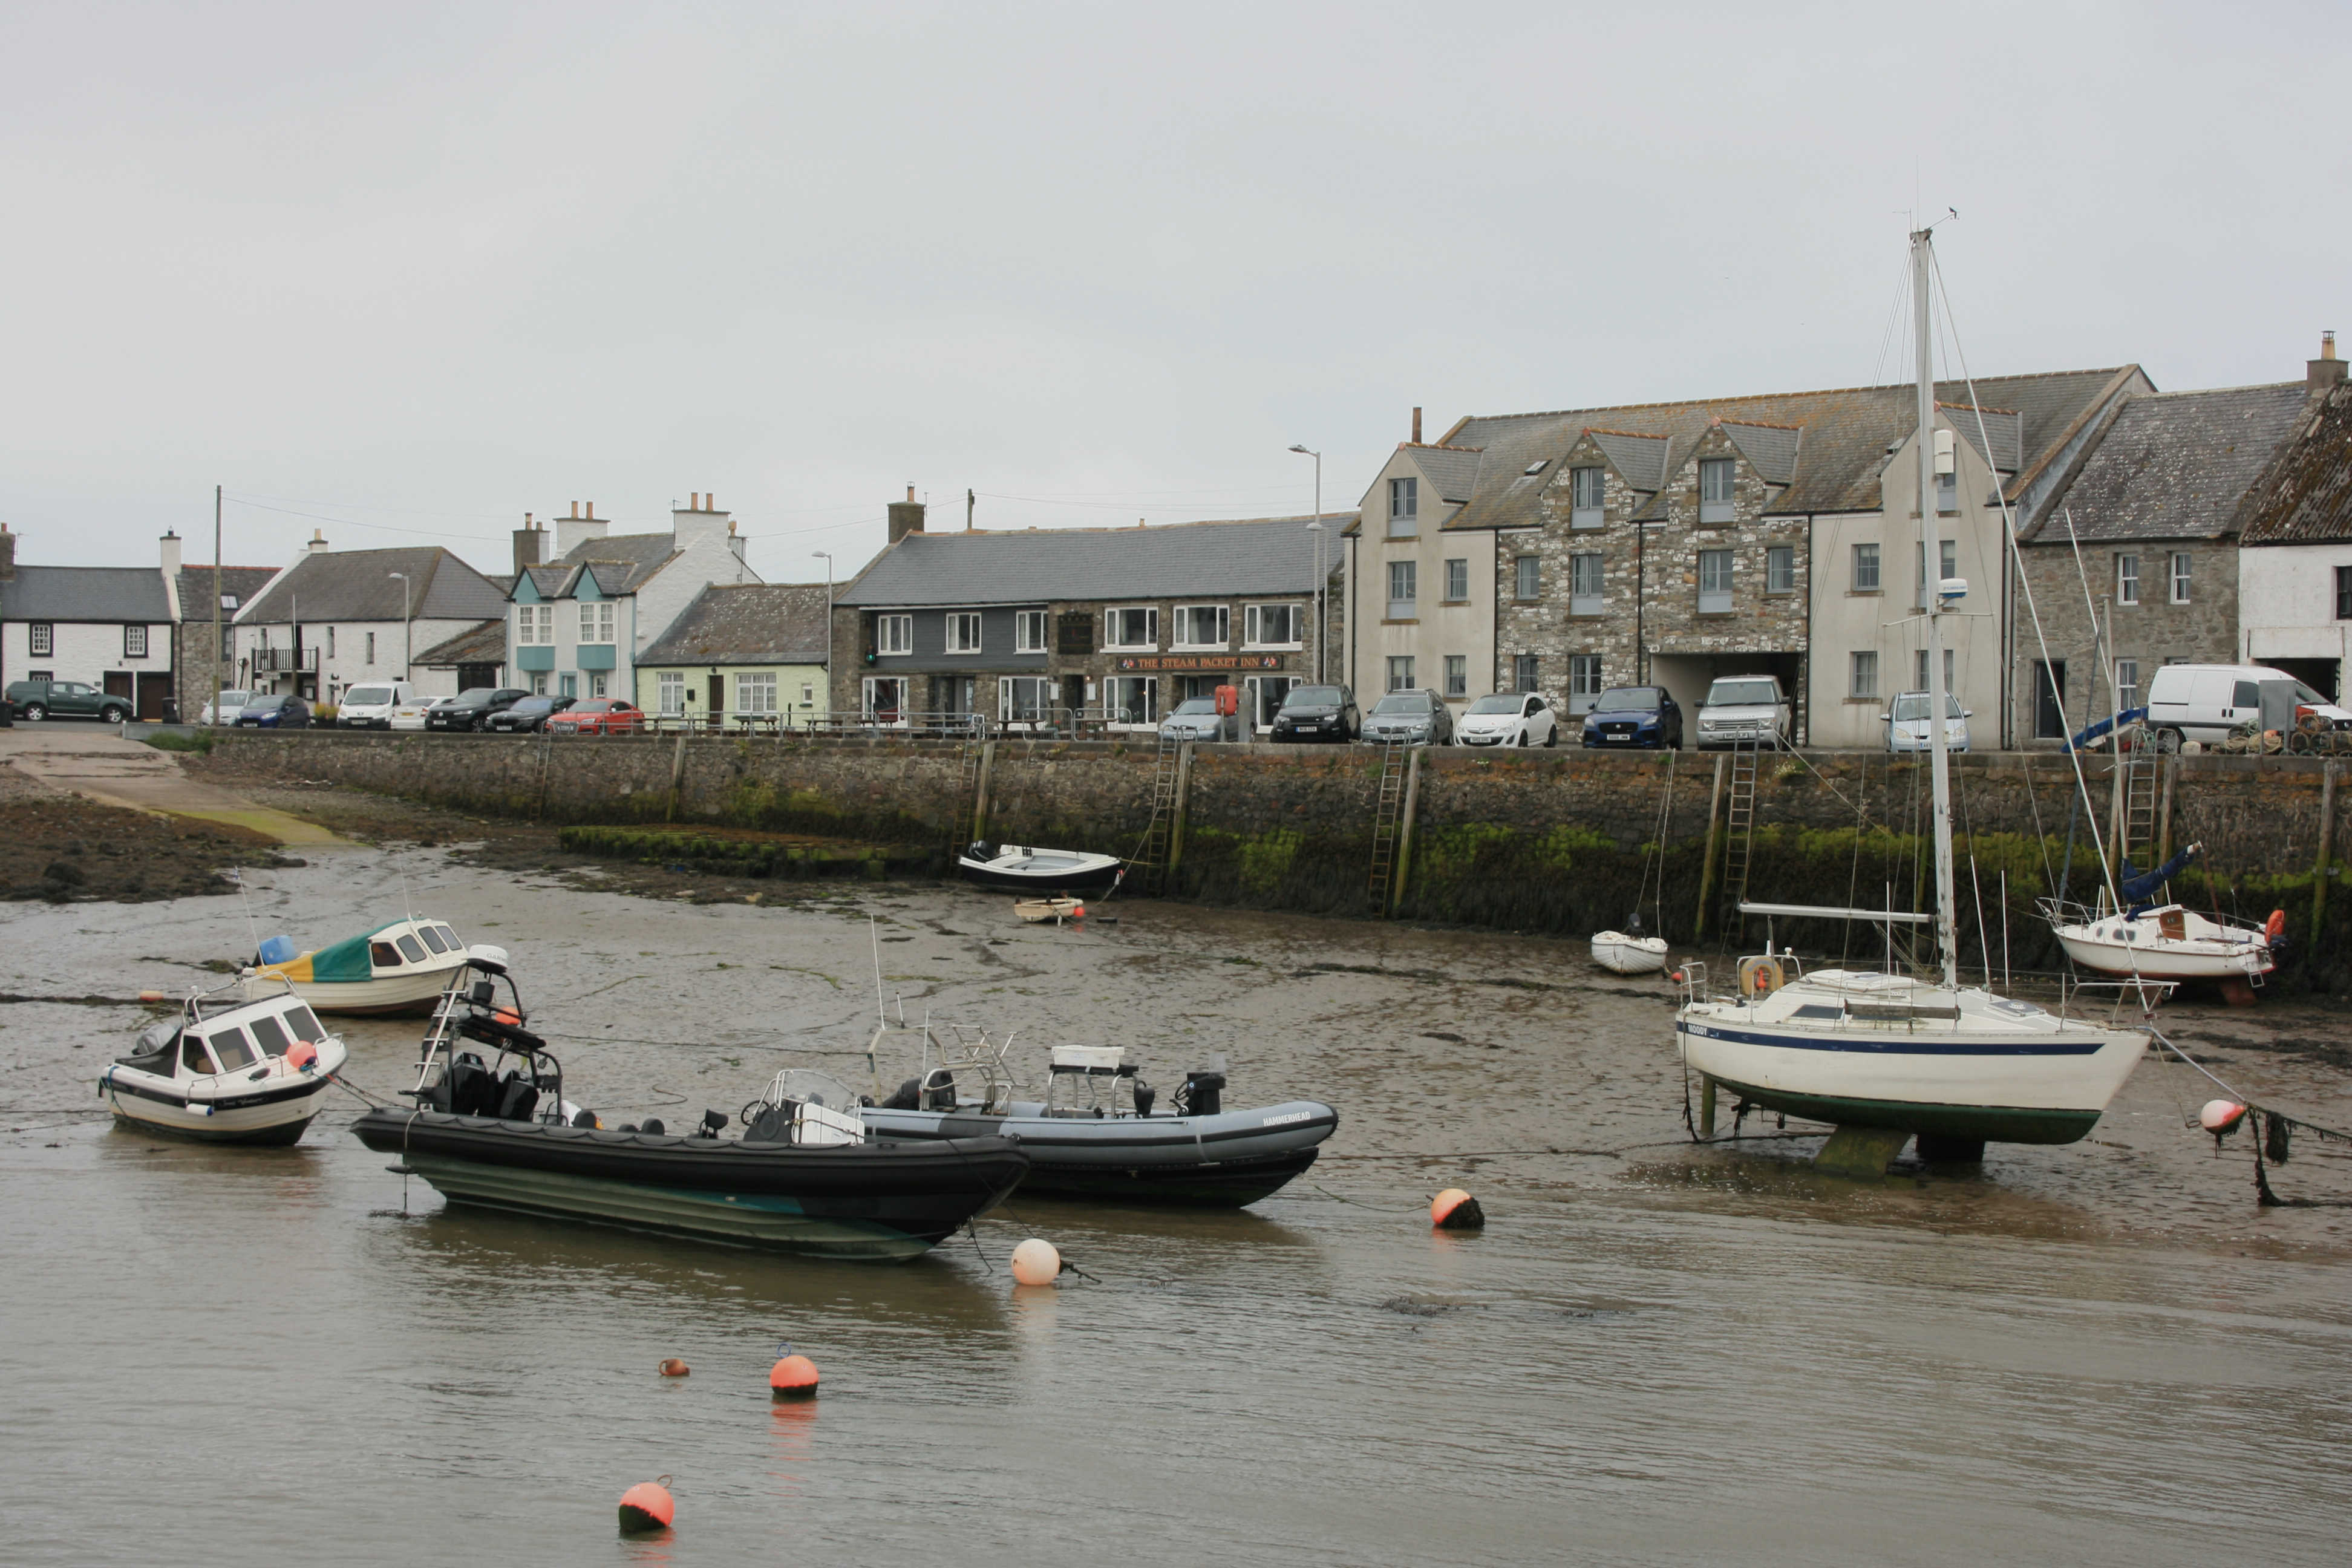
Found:
<path fill-rule="evenodd" d="M 1985 376 L 1976 402 L 1985 409 L 1992 463 L 2009 475 L 2011 494 L 2039 477 L 2110 397 L 2143 381 L 2140 367 Z M 1962 437 L 1983 449 L 1964 383 L 1943 383 L 1936 400 Z M 1592 430 L 1625 482 L 1658 491 L 1682 470 L 1691 449 L 1722 423 L 1757 473 L 1785 489 L 1771 512 L 1870 512 L 1879 508 L 1879 473 L 1889 449 L 1917 425 L 1917 388 L 1860 386 L 1823 393 L 1705 397 L 1693 402 L 1557 409 L 1548 414 L 1470 416 L 1446 433 L 1446 447 L 1479 447 L 1477 494 L 1446 529 L 1536 527 L 1538 484 L 1517 484 L 1529 463 L 1559 458 Z M 1602 435 L 1606 433 L 1606 437 Z M 1653 437 L 1653 440 L 1625 440 Z M 1663 437 L 1663 447 L 1656 437 Z M 1663 461 L 1656 456 L 1663 451 Z M 1780 475 L 1780 477 L 1776 477 Z M 1663 515 L 1663 491 L 1637 512 Z"/>

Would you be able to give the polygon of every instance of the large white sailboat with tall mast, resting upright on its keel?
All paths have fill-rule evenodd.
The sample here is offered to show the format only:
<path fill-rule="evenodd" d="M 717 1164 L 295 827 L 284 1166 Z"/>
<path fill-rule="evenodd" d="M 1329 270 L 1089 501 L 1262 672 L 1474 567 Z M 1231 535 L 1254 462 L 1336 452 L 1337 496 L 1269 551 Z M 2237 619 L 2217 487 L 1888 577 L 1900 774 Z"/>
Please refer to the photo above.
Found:
<path fill-rule="evenodd" d="M 1912 317 L 1919 369 L 1919 536 L 1922 559 L 1943 559 L 1936 534 L 1936 381 L 1929 336 L 1933 230 L 1912 237 Z M 1964 583 L 1926 595 L 1929 712 L 1945 710 L 1938 618 Z M 2074 1143 L 2089 1133 L 2131 1077 L 2147 1034 L 2098 1027 L 2030 1001 L 1959 983 L 1959 922 L 1952 879 L 1952 771 L 1940 724 L 1933 757 L 1936 950 L 1943 973 L 1919 980 L 1851 969 L 1795 971 L 1792 954 L 1740 961 L 1740 990 L 1710 997 L 1703 966 L 1684 966 L 1675 1013 L 1682 1060 L 1705 1103 L 1731 1091 L 1750 1105 L 1830 1121 L 1837 1135 L 1820 1161 L 1884 1171 L 1912 1135 L 1924 1159 L 1983 1159 L 1985 1143 Z M 1813 919 L 1926 922 L 1886 910 L 1740 905 L 1743 912 Z M 1766 936 L 1766 947 L 1769 947 Z"/>

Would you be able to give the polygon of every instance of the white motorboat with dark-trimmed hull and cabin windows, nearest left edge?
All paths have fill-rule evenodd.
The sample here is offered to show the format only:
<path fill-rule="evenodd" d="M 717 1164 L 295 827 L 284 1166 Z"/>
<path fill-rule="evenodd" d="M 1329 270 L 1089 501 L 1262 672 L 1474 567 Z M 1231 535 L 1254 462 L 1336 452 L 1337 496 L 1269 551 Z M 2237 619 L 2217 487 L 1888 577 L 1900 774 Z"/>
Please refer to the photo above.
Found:
<path fill-rule="evenodd" d="M 247 999 L 233 980 L 191 992 L 176 1018 L 148 1025 L 139 1048 L 99 1077 L 99 1098 L 118 1121 L 158 1133 L 287 1145 L 310 1126 L 346 1056 L 289 987 Z"/>

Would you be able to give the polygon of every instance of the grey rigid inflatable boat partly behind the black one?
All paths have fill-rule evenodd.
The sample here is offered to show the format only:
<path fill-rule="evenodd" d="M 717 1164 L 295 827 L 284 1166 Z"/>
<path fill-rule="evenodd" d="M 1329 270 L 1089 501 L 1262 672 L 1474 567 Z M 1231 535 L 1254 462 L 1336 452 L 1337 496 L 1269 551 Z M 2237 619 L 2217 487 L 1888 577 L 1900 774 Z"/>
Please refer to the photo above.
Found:
<path fill-rule="evenodd" d="M 1204 1208 L 1279 1192 L 1338 1131 L 1338 1112 L 1319 1100 L 1223 1110 L 1223 1065 L 1188 1074 L 1174 1105 L 1157 1110 L 1124 1046 L 1056 1046 L 1047 1098 L 1014 1100 L 1002 1053 L 981 1037 L 946 1051 L 950 1060 L 927 1060 L 884 1105 L 861 1107 L 866 1131 L 1014 1138 L 1028 1157 L 1021 1197 Z"/>

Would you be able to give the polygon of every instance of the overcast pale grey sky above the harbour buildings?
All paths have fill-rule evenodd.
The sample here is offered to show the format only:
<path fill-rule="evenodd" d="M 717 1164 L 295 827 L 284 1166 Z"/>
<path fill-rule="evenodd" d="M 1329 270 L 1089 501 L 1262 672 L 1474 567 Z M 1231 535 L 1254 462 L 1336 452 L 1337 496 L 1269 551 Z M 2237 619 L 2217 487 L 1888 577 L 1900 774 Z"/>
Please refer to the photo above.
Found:
<path fill-rule="evenodd" d="M 1978 374 L 2303 374 L 2352 7 L 0 9 L 0 520 L 278 564 L 715 491 L 1355 505 L 1411 404 L 1853 386 L 1905 214 Z M 1900 334 L 1896 334 L 1900 339 Z M 2352 339 L 2347 339 L 2352 341 Z M 278 510 L 263 510 L 278 508 Z M 310 512 L 315 517 L 306 517 Z M 322 522 L 332 520 L 332 522 Z M 362 527 L 367 524 L 367 527 Z"/>

